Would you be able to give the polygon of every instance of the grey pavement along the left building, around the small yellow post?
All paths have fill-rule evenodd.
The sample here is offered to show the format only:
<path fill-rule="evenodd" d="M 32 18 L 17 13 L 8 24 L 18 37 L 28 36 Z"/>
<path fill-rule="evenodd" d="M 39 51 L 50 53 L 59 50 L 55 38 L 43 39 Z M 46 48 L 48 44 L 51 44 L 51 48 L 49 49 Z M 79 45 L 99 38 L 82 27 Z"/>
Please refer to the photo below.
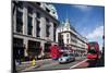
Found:
<path fill-rule="evenodd" d="M 52 62 L 51 59 L 37 60 L 35 66 L 32 65 L 32 61 L 22 62 L 22 64 L 16 65 L 16 71 L 29 71 L 32 69 L 37 69 L 44 65 L 50 65 Z"/>

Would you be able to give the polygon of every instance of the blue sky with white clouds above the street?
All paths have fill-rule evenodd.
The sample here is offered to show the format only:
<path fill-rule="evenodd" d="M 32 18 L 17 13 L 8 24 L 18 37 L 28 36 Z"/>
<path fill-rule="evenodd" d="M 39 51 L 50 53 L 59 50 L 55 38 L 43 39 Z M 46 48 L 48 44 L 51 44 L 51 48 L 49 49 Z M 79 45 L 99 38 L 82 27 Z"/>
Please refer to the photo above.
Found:
<path fill-rule="evenodd" d="M 64 22 L 68 17 L 72 26 L 86 37 L 88 41 L 98 41 L 102 47 L 105 25 L 105 8 L 98 5 L 78 5 L 55 3 L 59 21 Z"/>

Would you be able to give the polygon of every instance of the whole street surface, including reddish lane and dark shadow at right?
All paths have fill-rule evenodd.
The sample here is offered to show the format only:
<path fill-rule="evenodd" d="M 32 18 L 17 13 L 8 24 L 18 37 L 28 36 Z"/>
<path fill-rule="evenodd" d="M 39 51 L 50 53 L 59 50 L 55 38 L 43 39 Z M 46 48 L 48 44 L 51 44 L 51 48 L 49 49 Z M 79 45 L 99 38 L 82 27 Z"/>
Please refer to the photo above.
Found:
<path fill-rule="evenodd" d="M 38 64 L 38 65 L 37 65 Z M 75 61 L 60 64 L 58 61 L 50 60 L 41 60 L 36 62 L 35 66 L 32 66 L 31 64 L 23 63 L 21 65 L 21 70 L 17 70 L 20 72 L 29 72 L 29 71 L 47 71 L 47 70 L 68 70 L 68 69 L 83 69 L 83 68 L 97 68 L 97 66 L 104 66 L 104 59 L 99 59 L 97 61 L 95 60 L 88 60 L 86 58 L 76 58 Z"/>

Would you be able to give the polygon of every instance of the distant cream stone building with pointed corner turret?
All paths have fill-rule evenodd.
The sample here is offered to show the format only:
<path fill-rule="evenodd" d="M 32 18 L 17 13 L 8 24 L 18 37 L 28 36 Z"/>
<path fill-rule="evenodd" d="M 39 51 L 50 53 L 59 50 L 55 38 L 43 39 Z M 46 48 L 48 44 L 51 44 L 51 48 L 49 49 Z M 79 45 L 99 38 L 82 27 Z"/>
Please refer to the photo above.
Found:
<path fill-rule="evenodd" d="M 86 53 L 87 39 L 71 26 L 68 19 L 57 28 L 57 41 L 59 42 L 59 40 L 62 40 L 65 47 L 71 47 L 78 54 Z"/>

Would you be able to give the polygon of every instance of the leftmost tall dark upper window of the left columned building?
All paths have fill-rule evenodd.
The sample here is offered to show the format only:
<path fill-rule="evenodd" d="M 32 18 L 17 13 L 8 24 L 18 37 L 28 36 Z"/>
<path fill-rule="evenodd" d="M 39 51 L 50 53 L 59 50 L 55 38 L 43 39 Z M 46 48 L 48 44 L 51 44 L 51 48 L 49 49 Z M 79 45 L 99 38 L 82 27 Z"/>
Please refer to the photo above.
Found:
<path fill-rule="evenodd" d="M 16 32 L 23 33 L 23 20 L 22 20 L 23 13 L 16 10 Z"/>

